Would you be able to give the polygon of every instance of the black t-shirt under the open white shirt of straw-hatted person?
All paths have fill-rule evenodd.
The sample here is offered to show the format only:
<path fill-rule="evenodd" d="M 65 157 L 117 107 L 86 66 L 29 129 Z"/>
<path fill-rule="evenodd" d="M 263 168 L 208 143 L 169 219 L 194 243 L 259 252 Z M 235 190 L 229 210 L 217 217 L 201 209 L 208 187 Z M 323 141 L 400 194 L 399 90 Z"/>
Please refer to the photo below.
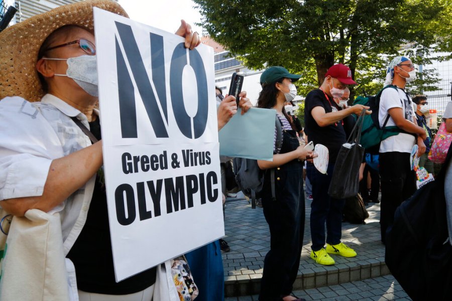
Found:
<path fill-rule="evenodd" d="M 90 131 L 100 140 L 99 118 L 89 123 Z M 116 283 L 111 253 L 110 227 L 104 185 L 96 177 L 88 216 L 67 258 L 75 266 L 77 287 L 102 294 L 130 294 L 155 283 L 156 269 L 151 268 Z"/>

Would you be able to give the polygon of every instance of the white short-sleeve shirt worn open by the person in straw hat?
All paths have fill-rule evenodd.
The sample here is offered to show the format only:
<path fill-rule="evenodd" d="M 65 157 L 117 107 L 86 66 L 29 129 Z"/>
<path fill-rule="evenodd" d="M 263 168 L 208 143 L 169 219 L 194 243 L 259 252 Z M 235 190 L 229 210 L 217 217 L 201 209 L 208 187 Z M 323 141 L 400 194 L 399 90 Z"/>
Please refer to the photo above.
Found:
<path fill-rule="evenodd" d="M 41 196 L 52 161 L 91 145 L 71 117 L 89 128 L 84 114 L 51 94 L 38 102 L 0 101 L 0 201 Z M 65 255 L 86 221 L 94 182 L 95 176 L 49 212 L 60 214 Z"/>

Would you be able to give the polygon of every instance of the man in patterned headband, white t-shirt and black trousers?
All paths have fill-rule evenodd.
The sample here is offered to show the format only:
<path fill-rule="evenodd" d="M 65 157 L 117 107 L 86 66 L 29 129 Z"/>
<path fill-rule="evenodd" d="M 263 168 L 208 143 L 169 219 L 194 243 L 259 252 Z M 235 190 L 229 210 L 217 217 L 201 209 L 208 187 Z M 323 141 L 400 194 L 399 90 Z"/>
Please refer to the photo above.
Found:
<path fill-rule="evenodd" d="M 394 58 L 386 71 L 385 86 L 380 97 L 378 120 L 383 126 L 397 126 L 404 132 L 387 137 L 380 144 L 381 179 L 381 240 L 385 243 L 386 229 L 394 221 L 397 207 L 416 191 L 416 176 L 411 170 L 410 154 L 413 145 L 419 146 L 418 156 L 425 153 L 425 130 L 414 120 L 411 97 L 405 86 L 416 78 L 416 70 L 410 59 Z"/>

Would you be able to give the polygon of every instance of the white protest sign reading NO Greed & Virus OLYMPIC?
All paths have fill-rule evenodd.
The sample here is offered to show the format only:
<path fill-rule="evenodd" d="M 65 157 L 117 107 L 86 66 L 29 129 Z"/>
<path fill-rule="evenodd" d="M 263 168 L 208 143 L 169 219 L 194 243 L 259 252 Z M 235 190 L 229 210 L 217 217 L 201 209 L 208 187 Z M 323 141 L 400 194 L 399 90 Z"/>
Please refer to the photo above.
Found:
<path fill-rule="evenodd" d="M 224 235 L 213 49 L 94 8 L 116 280 Z"/>

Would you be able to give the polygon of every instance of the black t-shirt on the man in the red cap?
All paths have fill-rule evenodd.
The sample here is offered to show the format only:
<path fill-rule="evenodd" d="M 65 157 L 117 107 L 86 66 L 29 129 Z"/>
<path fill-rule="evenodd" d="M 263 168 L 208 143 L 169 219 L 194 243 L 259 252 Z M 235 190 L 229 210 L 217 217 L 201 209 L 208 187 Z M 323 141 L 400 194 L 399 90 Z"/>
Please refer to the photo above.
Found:
<path fill-rule="evenodd" d="M 345 118 L 347 120 L 344 120 L 344 124 L 340 120 L 328 126 L 319 126 L 311 115 L 311 110 L 314 107 L 321 106 L 325 109 L 326 113 L 340 110 L 334 100 L 329 96 L 327 96 L 328 99 L 325 98 L 325 95 L 322 90 L 315 89 L 306 96 L 304 105 L 304 122 L 306 126 L 304 132 L 308 136 L 308 141 L 313 141 L 314 145 L 317 143 L 325 145 L 329 151 L 328 162 L 335 163 L 341 145 L 347 142 L 344 124 L 348 125 L 349 118 Z"/>

